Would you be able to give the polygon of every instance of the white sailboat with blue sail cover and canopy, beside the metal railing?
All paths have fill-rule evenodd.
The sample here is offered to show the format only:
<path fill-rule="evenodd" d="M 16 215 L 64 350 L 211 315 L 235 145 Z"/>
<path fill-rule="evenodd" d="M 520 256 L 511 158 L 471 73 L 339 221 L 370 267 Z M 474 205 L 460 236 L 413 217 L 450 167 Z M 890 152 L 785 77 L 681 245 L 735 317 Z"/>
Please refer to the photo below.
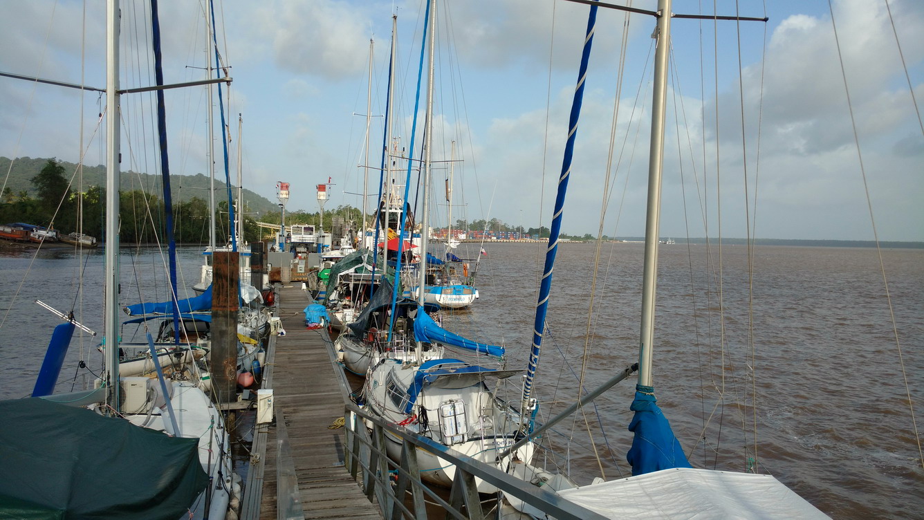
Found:
<path fill-rule="evenodd" d="M 433 111 L 433 59 L 435 48 L 435 0 L 427 4 L 424 18 L 425 43 L 421 44 L 420 63 L 429 42 L 429 68 L 427 80 L 426 129 L 423 147 L 423 207 L 421 218 L 421 246 L 417 275 L 418 286 L 425 284 L 425 264 L 428 243 L 429 207 L 428 194 L 431 172 L 432 111 Z M 416 111 L 415 111 L 416 114 Z M 416 116 L 416 115 L 415 115 Z M 411 133 L 413 150 L 414 133 Z M 400 257 L 399 257 L 400 260 Z M 392 308 L 395 308 L 393 302 Z M 520 373 L 520 370 L 491 369 L 487 364 L 492 357 L 502 358 L 504 349 L 496 345 L 483 345 L 449 333 L 427 314 L 422 292 L 417 294 L 417 308 L 408 313 L 413 320 L 412 361 L 382 357 L 372 360 L 369 374 L 363 386 L 364 405 L 370 412 L 383 419 L 425 436 L 459 453 L 492 466 L 504 467 L 514 459 L 529 460 L 532 443 L 526 441 L 513 448 L 513 444 L 524 434 L 518 428 L 522 422 L 516 406 L 499 399 L 485 382 L 489 378 L 504 379 Z M 391 331 L 390 325 L 389 331 Z M 479 354 L 479 364 L 472 364 L 455 357 L 438 357 L 423 360 L 427 345 L 444 345 L 473 350 Z M 398 460 L 402 440 L 385 433 L 386 450 L 390 457 Z M 501 453 L 505 451 L 505 453 Z M 432 453 L 419 453 L 420 477 L 440 485 L 450 485 L 456 477 L 455 466 L 446 463 Z M 481 492 L 492 492 L 492 485 L 476 479 Z"/>

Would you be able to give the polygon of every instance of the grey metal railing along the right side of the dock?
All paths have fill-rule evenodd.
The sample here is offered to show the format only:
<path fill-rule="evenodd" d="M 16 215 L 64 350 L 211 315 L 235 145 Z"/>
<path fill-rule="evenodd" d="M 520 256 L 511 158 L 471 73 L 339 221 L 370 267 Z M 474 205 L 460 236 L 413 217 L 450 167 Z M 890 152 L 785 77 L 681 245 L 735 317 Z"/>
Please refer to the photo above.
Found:
<path fill-rule="evenodd" d="M 604 518 L 552 492 L 530 485 L 495 467 L 475 461 L 442 444 L 395 426 L 381 417 L 374 417 L 353 403 L 346 404 L 344 417 L 346 469 L 359 481 L 369 500 L 379 503 L 386 520 L 427 518 L 425 497 L 426 500 L 442 507 L 445 518 L 480 520 L 484 518 L 484 514 L 475 478 L 484 480 L 498 490 L 558 520 Z M 403 441 L 400 463 L 388 458 L 385 451 L 386 432 Z M 453 479 L 448 502 L 420 480 L 418 450 L 438 455 L 447 463 L 456 466 L 456 478 Z M 393 478 L 393 475 L 396 478 Z"/>

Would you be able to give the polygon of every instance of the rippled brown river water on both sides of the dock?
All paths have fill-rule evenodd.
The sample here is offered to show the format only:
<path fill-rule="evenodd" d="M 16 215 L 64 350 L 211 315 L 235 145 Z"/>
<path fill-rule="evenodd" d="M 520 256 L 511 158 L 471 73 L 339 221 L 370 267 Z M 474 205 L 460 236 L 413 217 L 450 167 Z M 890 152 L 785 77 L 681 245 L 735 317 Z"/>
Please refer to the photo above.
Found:
<path fill-rule="evenodd" d="M 604 244 L 591 291 L 595 246 L 559 248 L 535 383 L 540 418 L 576 399 L 582 367 L 592 391 L 638 361 L 642 249 Z M 463 244 L 456 255 L 475 258 L 478 250 Z M 485 250 L 480 299 L 447 313 L 444 327 L 505 345 L 507 368 L 525 368 L 544 245 L 489 243 Z M 180 249 L 182 286 L 197 281 L 199 251 Z M 138 294 L 164 297 L 157 250 L 123 252 L 123 303 L 139 301 Z M 906 394 L 907 382 L 920 423 L 924 250 L 883 249 L 882 259 L 891 311 L 873 248 L 758 247 L 749 280 L 744 246 L 723 246 L 721 257 L 716 245 L 661 247 L 654 385 L 693 466 L 756 466 L 834 518 L 924 518 L 924 471 Z M 75 308 L 102 334 L 102 265 L 102 249 L 82 256 L 0 251 L 0 398 L 30 393 L 60 322 L 33 300 Z M 75 334 L 58 392 L 91 380 L 76 368 L 80 359 L 98 373 L 98 343 L 99 336 Z M 506 381 L 518 391 L 516 377 Z M 559 424 L 546 437 L 553 451 L 537 462 L 581 484 L 629 475 L 635 381 L 616 384 L 583 415 Z"/>

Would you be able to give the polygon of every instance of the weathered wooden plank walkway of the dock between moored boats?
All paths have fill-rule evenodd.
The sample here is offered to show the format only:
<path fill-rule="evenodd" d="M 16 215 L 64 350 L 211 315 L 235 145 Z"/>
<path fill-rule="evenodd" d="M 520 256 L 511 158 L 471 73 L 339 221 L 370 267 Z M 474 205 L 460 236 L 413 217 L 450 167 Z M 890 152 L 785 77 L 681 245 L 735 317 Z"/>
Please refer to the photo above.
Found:
<path fill-rule="evenodd" d="M 382 518 L 344 467 L 344 433 L 337 424 L 343 424 L 348 390 L 334 372 L 340 368 L 327 334 L 305 328 L 310 296 L 300 283 L 289 284 L 277 288 L 276 302 L 286 335 L 275 338 L 268 367 L 276 423 L 265 428 L 262 467 L 251 468 L 262 477 L 252 480 L 262 482 L 259 518 Z M 245 508 L 241 516 L 252 512 Z"/>

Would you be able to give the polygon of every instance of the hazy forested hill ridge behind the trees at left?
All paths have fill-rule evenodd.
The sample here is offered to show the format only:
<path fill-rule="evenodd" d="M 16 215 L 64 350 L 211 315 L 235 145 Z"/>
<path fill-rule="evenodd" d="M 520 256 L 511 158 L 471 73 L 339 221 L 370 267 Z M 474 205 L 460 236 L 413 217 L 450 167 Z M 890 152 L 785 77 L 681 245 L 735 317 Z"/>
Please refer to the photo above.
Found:
<path fill-rule="evenodd" d="M 9 170 L 9 163 L 10 160 L 8 158 L 0 157 L 0 173 L 6 175 L 6 171 Z M 36 190 L 35 187 L 32 186 L 30 180 L 35 175 L 38 175 L 47 163 L 47 158 L 18 158 L 13 162 L 13 169 L 9 173 L 9 178 L 6 179 L 6 187 L 10 188 L 14 196 L 18 195 L 21 191 L 25 191 L 30 197 L 35 197 Z M 71 176 L 75 175 L 77 172 L 77 164 L 67 163 L 67 161 L 59 161 L 58 163 L 64 167 L 67 180 L 70 180 Z M 123 191 L 143 189 L 146 192 L 156 194 L 158 197 L 160 197 L 163 191 L 160 175 L 137 174 L 128 171 L 122 172 L 120 180 Z M 173 199 L 177 201 L 190 200 L 193 197 L 208 200 L 209 184 L 210 180 L 207 175 L 170 175 L 170 191 L 172 192 Z M 106 186 L 106 168 L 103 164 L 97 166 L 84 164 L 83 191 L 86 191 L 87 187 L 91 186 Z M 215 178 L 215 187 L 224 188 L 225 182 Z M 79 190 L 76 179 L 72 182 L 71 189 L 73 191 Z M 278 211 L 276 203 L 267 200 L 261 195 L 257 195 L 246 187 L 244 188 L 244 202 L 247 204 L 248 212 L 263 213 Z"/>

